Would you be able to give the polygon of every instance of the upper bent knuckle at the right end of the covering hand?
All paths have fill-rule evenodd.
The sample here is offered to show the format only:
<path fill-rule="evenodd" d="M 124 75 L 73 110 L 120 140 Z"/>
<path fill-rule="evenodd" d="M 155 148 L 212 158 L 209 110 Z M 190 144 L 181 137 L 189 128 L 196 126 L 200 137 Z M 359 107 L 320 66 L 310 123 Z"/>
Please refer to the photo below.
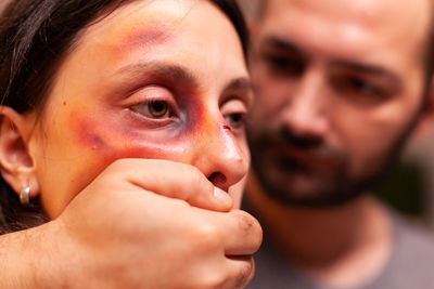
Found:
<path fill-rule="evenodd" d="M 263 229 L 255 218 L 242 210 L 215 214 L 218 225 L 225 228 L 220 234 L 226 255 L 251 255 L 259 249 Z"/>

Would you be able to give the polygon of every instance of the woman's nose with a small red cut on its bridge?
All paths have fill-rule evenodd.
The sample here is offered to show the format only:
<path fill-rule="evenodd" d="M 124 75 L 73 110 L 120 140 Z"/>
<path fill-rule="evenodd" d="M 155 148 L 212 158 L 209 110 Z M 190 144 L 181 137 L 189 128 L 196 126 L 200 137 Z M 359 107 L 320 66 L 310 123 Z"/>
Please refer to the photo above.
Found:
<path fill-rule="evenodd" d="M 197 149 L 192 165 L 215 186 L 227 192 L 247 173 L 250 154 L 245 143 L 237 140 L 222 118 L 212 130 L 206 142 Z"/>

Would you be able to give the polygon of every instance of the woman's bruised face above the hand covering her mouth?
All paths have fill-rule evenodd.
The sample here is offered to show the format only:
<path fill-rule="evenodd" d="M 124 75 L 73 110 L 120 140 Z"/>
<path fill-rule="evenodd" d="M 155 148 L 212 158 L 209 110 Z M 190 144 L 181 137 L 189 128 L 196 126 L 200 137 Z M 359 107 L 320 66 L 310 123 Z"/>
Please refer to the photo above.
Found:
<path fill-rule="evenodd" d="M 117 9 L 78 36 L 29 142 L 48 214 L 119 158 L 189 163 L 228 191 L 250 163 L 251 97 L 239 37 L 210 2 Z"/>

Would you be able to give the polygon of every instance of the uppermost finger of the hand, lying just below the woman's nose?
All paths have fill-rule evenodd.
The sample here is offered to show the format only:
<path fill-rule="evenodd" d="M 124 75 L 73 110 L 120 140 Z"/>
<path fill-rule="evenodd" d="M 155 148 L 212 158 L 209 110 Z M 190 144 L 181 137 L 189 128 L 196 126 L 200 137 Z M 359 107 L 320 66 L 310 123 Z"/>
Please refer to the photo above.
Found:
<path fill-rule="evenodd" d="M 129 183 L 191 206 L 215 211 L 229 211 L 233 200 L 215 187 L 195 167 L 161 159 L 122 159 L 112 163 L 107 173 L 120 173 Z"/>

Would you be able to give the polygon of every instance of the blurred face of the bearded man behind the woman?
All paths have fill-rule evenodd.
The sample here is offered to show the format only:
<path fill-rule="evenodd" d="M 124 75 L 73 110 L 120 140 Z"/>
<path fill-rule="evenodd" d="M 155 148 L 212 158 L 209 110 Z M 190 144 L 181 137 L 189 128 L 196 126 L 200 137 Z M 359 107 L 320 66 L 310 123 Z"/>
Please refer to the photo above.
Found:
<path fill-rule="evenodd" d="M 365 189 L 420 116 L 429 1 L 272 0 L 253 36 L 253 167 L 273 197 Z"/>

